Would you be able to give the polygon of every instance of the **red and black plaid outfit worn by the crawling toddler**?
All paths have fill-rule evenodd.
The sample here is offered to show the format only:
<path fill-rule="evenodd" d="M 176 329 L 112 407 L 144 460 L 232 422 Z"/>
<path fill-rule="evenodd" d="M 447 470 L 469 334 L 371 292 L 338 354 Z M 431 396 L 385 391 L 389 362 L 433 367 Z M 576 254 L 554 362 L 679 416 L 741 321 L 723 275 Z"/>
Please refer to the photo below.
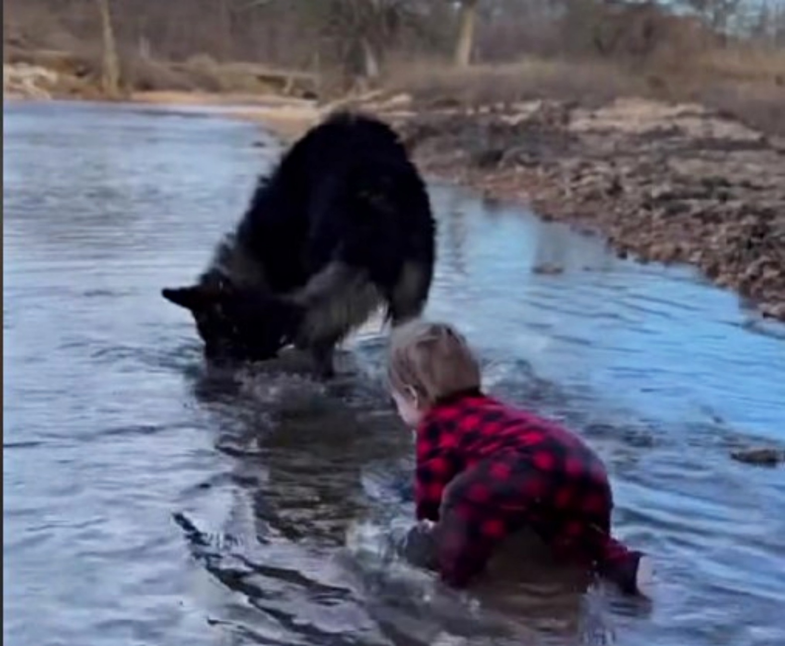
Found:
<path fill-rule="evenodd" d="M 604 464 L 570 431 L 469 391 L 429 410 L 416 452 L 417 518 L 438 521 L 445 582 L 466 585 L 502 538 L 530 527 L 557 554 L 634 591 L 641 554 L 611 537 Z"/>

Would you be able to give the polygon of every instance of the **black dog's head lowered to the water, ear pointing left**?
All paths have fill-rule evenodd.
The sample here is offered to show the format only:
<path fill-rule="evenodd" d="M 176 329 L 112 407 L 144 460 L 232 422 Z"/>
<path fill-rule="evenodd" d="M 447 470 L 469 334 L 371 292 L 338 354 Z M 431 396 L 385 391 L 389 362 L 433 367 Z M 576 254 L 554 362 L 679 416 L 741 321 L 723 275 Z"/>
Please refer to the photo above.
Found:
<path fill-rule="evenodd" d="M 191 312 L 208 358 L 273 358 L 294 340 L 301 318 L 293 303 L 226 280 L 164 288 L 161 294 Z"/>

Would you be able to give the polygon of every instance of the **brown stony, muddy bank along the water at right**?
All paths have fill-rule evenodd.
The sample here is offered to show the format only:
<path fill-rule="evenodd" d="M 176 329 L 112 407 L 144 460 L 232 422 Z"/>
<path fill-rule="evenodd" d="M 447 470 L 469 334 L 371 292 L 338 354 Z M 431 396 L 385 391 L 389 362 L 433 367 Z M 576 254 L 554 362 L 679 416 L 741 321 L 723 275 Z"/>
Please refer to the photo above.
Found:
<path fill-rule="evenodd" d="M 400 113 L 429 173 L 687 262 L 785 320 L 785 142 L 699 105 L 535 101 Z"/>

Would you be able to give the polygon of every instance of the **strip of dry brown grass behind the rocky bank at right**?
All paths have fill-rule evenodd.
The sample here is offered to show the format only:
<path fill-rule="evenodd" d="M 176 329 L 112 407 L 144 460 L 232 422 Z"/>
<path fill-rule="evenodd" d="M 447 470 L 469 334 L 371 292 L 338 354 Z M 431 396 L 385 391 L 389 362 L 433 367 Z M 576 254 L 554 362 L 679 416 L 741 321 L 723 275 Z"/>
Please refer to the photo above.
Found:
<path fill-rule="evenodd" d="M 635 64 L 530 57 L 455 69 L 434 61 L 390 69 L 387 86 L 418 105 L 510 104 L 536 98 L 597 107 L 617 97 L 698 101 L 767 134 L 785 135 L 785 52 L 707 50 L 692 58 L 662 53 Z"/>

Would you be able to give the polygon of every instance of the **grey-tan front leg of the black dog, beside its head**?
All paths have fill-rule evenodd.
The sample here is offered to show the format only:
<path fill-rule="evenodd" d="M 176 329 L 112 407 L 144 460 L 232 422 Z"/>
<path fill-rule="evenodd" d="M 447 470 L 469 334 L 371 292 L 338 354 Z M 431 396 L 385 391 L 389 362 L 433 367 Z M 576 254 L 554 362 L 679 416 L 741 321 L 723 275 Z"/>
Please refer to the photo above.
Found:
<path fill-rule="evenodd" d="M 382 302 L 367 272 L 343 262 L 330 262 L 293 297 L 305 309 L 296 344 L 312 352 L 324 376 L 334 374 L 338 341 L 371 317 Z"/>

